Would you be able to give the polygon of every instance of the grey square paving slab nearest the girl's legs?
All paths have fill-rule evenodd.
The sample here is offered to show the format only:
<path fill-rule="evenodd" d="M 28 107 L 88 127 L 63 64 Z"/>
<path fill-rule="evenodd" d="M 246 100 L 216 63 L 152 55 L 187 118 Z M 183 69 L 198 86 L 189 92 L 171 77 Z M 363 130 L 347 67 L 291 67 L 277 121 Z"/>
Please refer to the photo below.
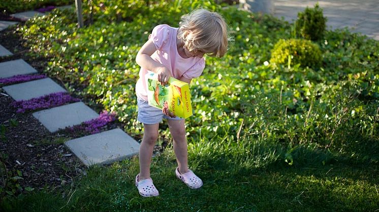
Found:
<path fill-rule="evenodd" d="M 65 142 L 87 166 L 109 164 L 138 154 L 139 143 L 120 129 Z"/>

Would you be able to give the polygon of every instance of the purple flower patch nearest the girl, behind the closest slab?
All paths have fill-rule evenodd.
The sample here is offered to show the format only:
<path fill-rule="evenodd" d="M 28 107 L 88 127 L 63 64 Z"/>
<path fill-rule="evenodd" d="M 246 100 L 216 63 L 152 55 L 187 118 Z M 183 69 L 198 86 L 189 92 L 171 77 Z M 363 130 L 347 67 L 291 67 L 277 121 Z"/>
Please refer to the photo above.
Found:
<path fill-rule="evenodd" d="M 69 128 L 70 131 L 85 131 L 90 134 L 100 133 L 101 128 L 103 128 L 108 123 L 114 121 L 116 119 L 115 113 L 109 113 L 104 110 L 100 113 L 99 117 L 91 119 L 89 121 L 85 121 L 81 124 L 71 126 Z"/>

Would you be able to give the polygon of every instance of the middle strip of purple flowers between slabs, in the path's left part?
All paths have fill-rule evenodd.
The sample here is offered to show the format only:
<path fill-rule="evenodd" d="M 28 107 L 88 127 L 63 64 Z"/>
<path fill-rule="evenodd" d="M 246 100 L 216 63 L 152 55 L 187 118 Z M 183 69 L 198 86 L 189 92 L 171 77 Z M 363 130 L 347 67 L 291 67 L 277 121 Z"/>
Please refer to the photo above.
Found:
<path fill-rule="evenodd" d="M 78 101 L 80 101 L 80 99 L 71 97 L 67 92 L 57 92 L 30 100 L 12 102 L 11 105 L 17 108 L 17 113 L 24 113 L 30 110 L 57 107 L 66 103 Z"/>

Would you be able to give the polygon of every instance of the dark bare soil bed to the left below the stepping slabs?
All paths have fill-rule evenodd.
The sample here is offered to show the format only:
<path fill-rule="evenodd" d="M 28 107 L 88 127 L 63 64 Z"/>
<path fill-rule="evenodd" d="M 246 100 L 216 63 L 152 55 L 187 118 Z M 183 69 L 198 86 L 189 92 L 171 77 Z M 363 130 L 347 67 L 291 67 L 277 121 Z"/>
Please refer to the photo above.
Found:
<path fill-rule="evenodd" d="M 15 184 L 20 188 L 43 189 L 80 179 L 77 177 L 85 173 L 85 167 L 63 144 L 68 138 L 48 132 L 31 113 L 16 113 L 9 106 L 13 101 L 0 95 L 0 123 L 5 129 L 0 149 L 7 155 L 9 183 L 15 183 L 11 178 L 17 176 L 20 179 Z"/>

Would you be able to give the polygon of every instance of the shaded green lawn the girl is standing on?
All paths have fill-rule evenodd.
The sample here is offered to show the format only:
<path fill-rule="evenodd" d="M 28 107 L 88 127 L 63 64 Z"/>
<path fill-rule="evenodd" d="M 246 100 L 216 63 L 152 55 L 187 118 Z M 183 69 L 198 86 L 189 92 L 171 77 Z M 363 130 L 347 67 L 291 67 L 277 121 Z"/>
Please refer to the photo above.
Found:
<path fill-rule="evenodd" d="M 293 165 L 285 162 L 288 152 L 274 145 L 256 146 L 255 157 L 203 150 L 190 157 L 192 169 L 204 181 L 198 190 L 176 179 L 175 156 L 167 149 L 151 165 L 158 197 L 138 194 L 134 177 L 139 164 L 134 158 L 91 167 L 72 188 L 9 197 L 0 206 L 5 211 L 374 211 L 379 206 L 375 164 L 351 165 L 306 146 L 291 152 Z"/>

